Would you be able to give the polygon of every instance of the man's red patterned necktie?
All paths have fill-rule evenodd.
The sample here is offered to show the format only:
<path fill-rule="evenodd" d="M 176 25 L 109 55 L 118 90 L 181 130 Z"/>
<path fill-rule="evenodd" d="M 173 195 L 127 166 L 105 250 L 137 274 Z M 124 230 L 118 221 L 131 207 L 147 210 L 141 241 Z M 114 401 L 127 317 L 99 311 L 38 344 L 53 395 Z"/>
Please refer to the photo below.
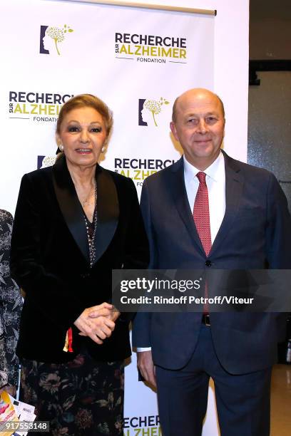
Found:
<path fill-rule="evenodd" d="M 194 202 L 193 219 L 205 254 L 208 256 L 211 249 L 211 232 L 208 189 L 205 182 L 205 172 L 198 172 L 197 177 L 199 180 L 199 187 Z M 207 284 L 205 284 L 205 297 L 208 297 Z M 204 306 L 203 313 L 209 313 L 208 304 Z"/>

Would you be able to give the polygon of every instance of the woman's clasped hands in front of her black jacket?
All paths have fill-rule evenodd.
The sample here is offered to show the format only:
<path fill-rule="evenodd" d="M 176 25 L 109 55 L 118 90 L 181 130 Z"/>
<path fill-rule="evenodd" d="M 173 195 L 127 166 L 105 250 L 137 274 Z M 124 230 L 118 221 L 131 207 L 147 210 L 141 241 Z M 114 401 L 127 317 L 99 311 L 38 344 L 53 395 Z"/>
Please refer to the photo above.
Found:
<path fill-rule="evenodd" d="M 111 319 L 112 304 L 102 303 L 98 306 L 86 308 L 74 322 L 79 329 L 81 336 L 88 336 L 92 341 L 99 345 L 103 340 L 109 338 L 115 328 L 115 323 Z M 90 317 L 90 313 L 95 316 Z"/>

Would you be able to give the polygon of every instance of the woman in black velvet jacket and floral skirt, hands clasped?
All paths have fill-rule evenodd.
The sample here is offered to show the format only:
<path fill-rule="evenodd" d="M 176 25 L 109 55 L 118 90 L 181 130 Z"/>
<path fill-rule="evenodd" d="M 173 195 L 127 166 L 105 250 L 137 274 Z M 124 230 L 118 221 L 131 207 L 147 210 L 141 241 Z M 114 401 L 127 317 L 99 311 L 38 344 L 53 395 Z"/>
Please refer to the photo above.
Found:
<path fill-rule="evenodd" d="M 93 95 L 61 108 L 53 167 L 24 175 L 11 271 L 26 292 L 17 353 L 21 399 L 52 435 L 121 435 L 128 319 L 113 310 L 111 270 L 146 267 L 132 180 L 97 163 L 112 115 Z"/>

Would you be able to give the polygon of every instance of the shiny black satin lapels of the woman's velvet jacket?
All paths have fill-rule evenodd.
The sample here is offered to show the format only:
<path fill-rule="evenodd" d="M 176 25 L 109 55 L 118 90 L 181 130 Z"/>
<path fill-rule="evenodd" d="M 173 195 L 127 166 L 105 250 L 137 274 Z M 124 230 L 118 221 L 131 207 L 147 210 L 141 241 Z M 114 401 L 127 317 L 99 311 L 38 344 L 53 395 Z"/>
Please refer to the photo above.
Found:
<path fill-rule="evenodd" d="M 95 237 L 96 258 L 100 259 L 108 248 L 116 232 L 119 217 L 118 195 L 116 185 L 109 172 L 97 165 L 97 227 Z M 89 263 L 88 239 L 83 215 L 83 208 L 78 200 L 76 189 L 68 172 L 65 157 L 59 158 L 53 165 L 53 187 L 58 205 L 86 261 Z"/>

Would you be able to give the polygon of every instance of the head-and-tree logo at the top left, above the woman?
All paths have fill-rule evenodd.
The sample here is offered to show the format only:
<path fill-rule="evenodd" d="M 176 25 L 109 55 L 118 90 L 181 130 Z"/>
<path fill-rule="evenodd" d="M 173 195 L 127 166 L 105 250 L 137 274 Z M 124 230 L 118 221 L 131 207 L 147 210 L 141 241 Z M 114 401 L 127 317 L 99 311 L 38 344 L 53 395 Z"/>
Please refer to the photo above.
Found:
<path fill-rule="evenodd" d="M 51 54 L 56 50 L 58 56 L 61 55 L 59 44 L 66 38 L 67 33 L 73 32 L 73 28 L 66 24 L 63 28 L 56 26 L 41 26 L 39 36 L 39 53 Z"/>

